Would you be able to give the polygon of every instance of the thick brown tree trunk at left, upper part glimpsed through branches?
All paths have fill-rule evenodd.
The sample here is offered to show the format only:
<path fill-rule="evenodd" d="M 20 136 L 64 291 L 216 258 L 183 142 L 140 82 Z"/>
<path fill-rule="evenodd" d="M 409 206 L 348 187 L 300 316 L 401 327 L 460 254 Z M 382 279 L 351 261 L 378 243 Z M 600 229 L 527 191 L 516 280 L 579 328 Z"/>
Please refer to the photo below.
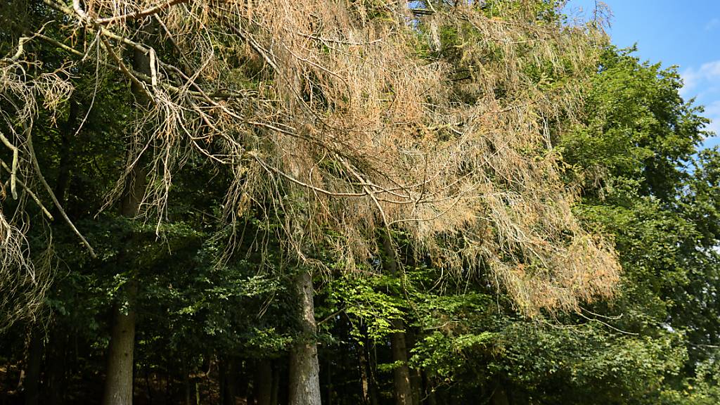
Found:
<path fill-rule="evenodd" d="M 134 51 L 132 66 L 143 74 L 150 74 L 150 57 Z M 139 104 L 148 104 L 141 89 L 133 86 L 132 92 Z M 125 184 L 125 197 L 123 197 L 120 213 L 128 218 L 138 215 L 140 202 L 145 194 L 145 170 L 136 164 Z M 132 262 L 127 254 L 120 252 L 118 259 L 122 264 Z M 131 405 L 132 404 L 132 370 L 133 347 L 135 345 L 135 298 L 138 295 L 138 281 L 135 275 L 125 285 L 125 295 L 129 306 L 123 310 L 116 303 L 113 308 L 112 334 L 110 337 L 109 354 L 107 360 L 107 375 L 102 397 L 103 405 Z"/>

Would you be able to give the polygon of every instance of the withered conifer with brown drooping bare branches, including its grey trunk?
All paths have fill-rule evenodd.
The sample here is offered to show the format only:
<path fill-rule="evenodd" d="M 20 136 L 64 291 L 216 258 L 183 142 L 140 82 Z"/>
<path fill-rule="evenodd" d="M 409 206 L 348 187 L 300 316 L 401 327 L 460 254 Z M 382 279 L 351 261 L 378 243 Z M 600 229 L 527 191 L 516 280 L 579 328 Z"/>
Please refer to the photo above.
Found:
<path fill-rule="evenodd" d="M 55 107 L 71 92 L 73 68 L 90 58 L 95 74 L 120 71 L 143 93 L 150 105 L 131 127 L 130 157 L 107 206 L 147 170 L 137 200 L 157 233 L 187 161 L 202 156 L 230 171 L 225 220 L 272 228 L 278 243 L 264 249 L 279 246 L 283 268 L 300 274 L 308 340 L 295 345 L 295 364 L 314 375 L 311 272 L 328 262 L 364 269 L 383 250 L 378 234 L 390 250 L 404 234 L 413 254 L 456 277 L 489 272 L 528 314 L 613 293 L 616 255 L 573 216 L 548 142 L 557 119 L 577 111 L 604 37 L 563 26 L 558 6 L 428 4 L 427 13 L 361 2 L 43 0 L 25 10 L 19 56 L 4 65 L 32 65 L 32 74 L 6 83 L 39 89 L 13 96 L 23 105 Z M 41 32 L 45 22 L 52 29 Z M 524 45 L 528 38 L 544 46 Z M 27 51 L 40 42 L 64 56 L 41 65 L 42 55 Z M 129 63 L 129 53 L 149 69 Z M 62 70 L 43 70 L 53 66 Z M 29 125 L 37 112 L 15 110 L 7 128 L 28 129 L 9 149 L 33 161 L 45 183 Z M 319 403 L 318 378 L 294 392 L 294 402 Z"/>

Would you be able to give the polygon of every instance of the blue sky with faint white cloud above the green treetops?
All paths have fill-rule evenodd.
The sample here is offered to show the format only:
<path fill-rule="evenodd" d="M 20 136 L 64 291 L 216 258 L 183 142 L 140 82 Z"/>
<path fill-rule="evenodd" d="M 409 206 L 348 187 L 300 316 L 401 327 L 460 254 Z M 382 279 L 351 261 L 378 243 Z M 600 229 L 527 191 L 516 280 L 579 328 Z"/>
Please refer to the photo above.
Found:
<path fill-rule="evenodd" d="M 720 0 L 606 0 L 611 12 L 608 33 L 613 43 L 637 43 L 642 60 L 678 65 L 685 99 L 696 97 L 720 134 Z M 570 0 L 568 9 L 592 17 L 594 0 Z M 705 146 L 720 145 L 720 136 Z"/>

